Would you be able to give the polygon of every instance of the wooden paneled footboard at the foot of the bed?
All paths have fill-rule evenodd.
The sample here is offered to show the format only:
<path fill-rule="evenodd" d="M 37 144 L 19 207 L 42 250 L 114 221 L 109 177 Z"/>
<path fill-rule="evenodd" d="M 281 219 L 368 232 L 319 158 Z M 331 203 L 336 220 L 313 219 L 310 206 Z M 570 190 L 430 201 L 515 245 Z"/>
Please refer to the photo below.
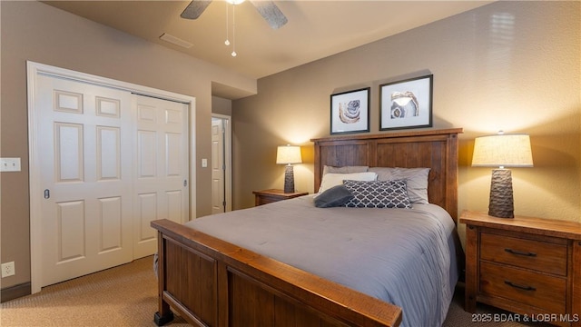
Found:
<path fill-rule="evenodd" d="M 169 220 L 159 242 L 159 312 L 197 326 L 397 326 L 401 309 Z"/>

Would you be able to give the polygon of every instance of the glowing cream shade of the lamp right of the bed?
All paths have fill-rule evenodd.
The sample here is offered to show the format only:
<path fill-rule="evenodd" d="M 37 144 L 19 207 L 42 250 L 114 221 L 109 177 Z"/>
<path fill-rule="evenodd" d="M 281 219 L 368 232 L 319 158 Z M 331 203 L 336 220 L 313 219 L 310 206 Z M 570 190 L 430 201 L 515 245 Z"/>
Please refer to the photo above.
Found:
<path fill-rule="evenodd" d="M 532 167 L 533 155 L 527 134 L 480 136 L 474 142 L 474 167 Z"/>

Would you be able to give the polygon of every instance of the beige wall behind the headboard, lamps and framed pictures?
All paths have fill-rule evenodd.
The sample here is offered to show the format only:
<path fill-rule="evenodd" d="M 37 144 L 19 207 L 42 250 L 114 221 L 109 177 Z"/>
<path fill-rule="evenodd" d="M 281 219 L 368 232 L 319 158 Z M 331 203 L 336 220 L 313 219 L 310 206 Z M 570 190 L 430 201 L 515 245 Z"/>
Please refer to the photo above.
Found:
<path fill-rule="evenodd" d="M 313 192 L 310 138 L 330 134 L 330 94 L 434 74 L 434 128 L 463 127 L 459 211 L 487 211 L 490 169 L 472 168 L 474 138 L 531 135 L 534 168 L 513 169 L 515 211 L 581 222 L 579 2 L 498 2 L 259 80 L 232 104 L 236 208 L 282 188 L 276 146 L 303 145 L 295 185 Z"/>

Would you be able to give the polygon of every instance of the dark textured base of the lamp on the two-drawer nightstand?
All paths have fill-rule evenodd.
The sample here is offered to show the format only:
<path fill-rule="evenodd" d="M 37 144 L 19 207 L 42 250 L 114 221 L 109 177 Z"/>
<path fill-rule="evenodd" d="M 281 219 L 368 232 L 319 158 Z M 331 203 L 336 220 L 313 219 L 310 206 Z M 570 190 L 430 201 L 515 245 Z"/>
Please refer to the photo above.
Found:
<path fill-rule="evenodd" d="M 509 169 L 494 169 L 490 182 L 488 215 L 498 218 L 514 218 L 512 175 Z"/>

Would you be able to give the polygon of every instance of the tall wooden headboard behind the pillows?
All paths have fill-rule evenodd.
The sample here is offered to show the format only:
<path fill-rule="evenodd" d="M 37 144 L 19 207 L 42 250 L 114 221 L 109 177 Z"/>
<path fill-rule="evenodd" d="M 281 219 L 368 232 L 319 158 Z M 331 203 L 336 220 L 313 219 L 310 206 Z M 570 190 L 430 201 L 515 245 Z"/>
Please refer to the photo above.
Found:
<path fill-rule="evenodd" d="M 429 203 L 458 220 L 458 134 L 461 128 L 386 134 L 341 135 L 310 140 L 315 144 L 315 191 L 323 167 L 430 168 Z"/>

